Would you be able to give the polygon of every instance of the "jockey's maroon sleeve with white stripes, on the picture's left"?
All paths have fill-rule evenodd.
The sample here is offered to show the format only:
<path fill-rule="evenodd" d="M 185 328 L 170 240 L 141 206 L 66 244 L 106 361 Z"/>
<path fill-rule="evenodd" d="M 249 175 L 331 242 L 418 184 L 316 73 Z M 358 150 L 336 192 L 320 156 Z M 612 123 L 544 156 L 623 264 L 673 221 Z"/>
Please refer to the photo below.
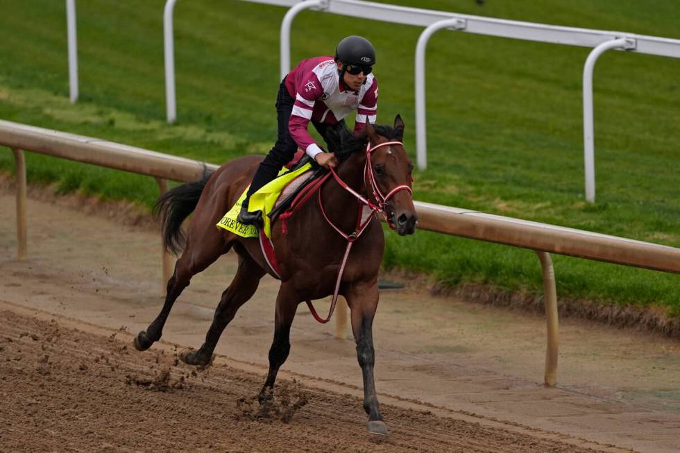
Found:
<path fill-rule="evenodd" d="M 303 78 L 300 78 L 300 83 L 295 88 L 295 103 L 293 104 L 291 117 L 288 120 L 288 130 L 298 146 L 303 148 L 309 157 L 314 158 L 315 155 L 322 153 L 323 150 L 318 147 L 318 144 L 309 135 L 307 126 L 309 125 L 309 120 L 312 119 L 316 99 L 323 96 L 323 87 L 316 74 L 309 71 Z"/>

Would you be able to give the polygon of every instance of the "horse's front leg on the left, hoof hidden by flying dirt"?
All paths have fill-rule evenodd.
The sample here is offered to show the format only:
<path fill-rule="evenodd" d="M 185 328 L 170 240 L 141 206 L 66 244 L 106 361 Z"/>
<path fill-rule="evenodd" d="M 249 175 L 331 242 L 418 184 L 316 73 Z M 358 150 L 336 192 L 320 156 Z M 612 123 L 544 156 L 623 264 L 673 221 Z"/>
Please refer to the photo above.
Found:
<path fill-rule="evenodd" d="M 274 381 L 278 374 L 279 368 L 288 358 L 291 350 L 290 334 L 291 325 L 295 318 L 295 312 L 298 309 L 299 298 L 296 296 L 296 291 L 292 285 L 283 283 L 279 289 L 276 297 L 276 312 L 274 316 L 274 339 L 269 349 L 269 373 L 267 373 L 266 381 L 258 400 L 260 403 L 269 398 L 266 391 L 268 388 L 274 387 Z"/>

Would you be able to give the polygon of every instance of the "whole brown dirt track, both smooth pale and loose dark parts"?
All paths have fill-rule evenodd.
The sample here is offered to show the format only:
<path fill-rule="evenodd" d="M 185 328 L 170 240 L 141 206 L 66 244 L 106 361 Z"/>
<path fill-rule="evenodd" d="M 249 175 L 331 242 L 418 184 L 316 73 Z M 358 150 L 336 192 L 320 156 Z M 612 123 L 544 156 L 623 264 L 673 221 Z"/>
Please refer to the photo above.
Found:
<path fill-rule="evenodd" d="M 289 423 L 258 418 L 246 403 L 264 381 L 277 282 L 263 280 L 215 366 L 194 376 L 174 365 L 173 343 L 201 344 L 235 260 L 192 281 L 164 331 L 171 343 L 139 353 L 128 332 L 162 302 L 158 234 L 56 201 L 29 200 L 29 259 L 17 262 L 13 198 L 0 194 L 0 423 L 14 430 L 0 430 L 0 451 L 27 441 L 35 451 L 680 450 L 677 342 L 563 320 L 558 387 L 543 388 L 541 317 L 418 291 L 385 291 L 375 320 L 389 438 L 366 433 L 353 341 L 305 307 L 280 376 L 300 382 L 288 387 L 292 404 L 302 394 L 308 403 Z M 60 336 L 46 341 L 52 319 Z"/>

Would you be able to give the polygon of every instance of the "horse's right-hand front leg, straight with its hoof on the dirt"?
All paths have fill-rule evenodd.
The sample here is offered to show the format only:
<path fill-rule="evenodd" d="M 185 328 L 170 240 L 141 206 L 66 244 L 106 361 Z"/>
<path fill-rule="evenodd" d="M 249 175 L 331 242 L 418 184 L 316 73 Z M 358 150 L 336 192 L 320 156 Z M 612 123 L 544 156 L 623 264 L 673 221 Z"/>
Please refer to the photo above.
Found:
<path fill-rule="evenodd" d="M 375 366 L 373 317 L 379 298 L 377 280 L 354 285 L 346 293 L 346 298 L 352 313 L 352 332 L 357 343 L 357 359 L 364 375 L 364 411 L 368 414 L 368 431 L 386 436 L 387 425 L 382 420 L 373 378 Z"/>

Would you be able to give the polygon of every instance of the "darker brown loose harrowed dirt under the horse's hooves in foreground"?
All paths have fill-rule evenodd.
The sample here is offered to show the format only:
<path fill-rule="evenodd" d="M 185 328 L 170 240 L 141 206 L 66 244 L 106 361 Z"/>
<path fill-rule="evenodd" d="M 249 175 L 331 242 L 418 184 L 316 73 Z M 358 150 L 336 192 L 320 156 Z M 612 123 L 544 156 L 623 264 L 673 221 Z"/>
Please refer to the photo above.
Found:
<path fill-rule="evenodd" d="M 389 405 L 391 434 L 373 437 L 350 395 L 282 381 L 263 408 L 262 376 L 224 364 L 197 371 L 8 310 L 0 330 L 2 450 L 593 451 Z"/>

